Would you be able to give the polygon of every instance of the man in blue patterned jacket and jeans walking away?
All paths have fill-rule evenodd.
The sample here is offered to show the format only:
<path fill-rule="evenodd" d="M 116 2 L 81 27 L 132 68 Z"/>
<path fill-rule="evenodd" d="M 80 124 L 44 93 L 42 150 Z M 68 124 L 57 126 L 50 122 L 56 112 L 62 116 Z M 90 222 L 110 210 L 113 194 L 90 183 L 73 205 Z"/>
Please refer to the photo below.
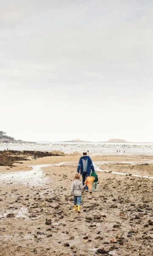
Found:
<path fill-rule="evenodd" d="M 92 160 L 89 156 L 87 156 L 87 152 L 83 152 L 83 156 L 80 157 L 79 164 L 77 167 L 77 172 L 79 173 L 79 170 L 80 170 L 80 173 L 82 175 L 83 185 L 85 182 L 85 178 L 90 176 L 91 169 L 92 169 L 92 172 L 94 172 L 94 165 L 92 163 Z M 85 186 L 85 191 L 88 192 L 88 186 Z"/>

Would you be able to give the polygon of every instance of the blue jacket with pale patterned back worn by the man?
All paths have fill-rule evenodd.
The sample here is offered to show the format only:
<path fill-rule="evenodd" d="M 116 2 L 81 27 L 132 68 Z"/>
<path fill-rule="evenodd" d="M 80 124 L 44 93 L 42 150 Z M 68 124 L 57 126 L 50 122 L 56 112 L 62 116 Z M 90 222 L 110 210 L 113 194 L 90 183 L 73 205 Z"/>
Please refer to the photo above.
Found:
<path fill-rule="evenodd" d="M 77 172 L 79 173 L 80 170 L 81 175 L 83 174 L 83 172 L 90 174 L 91 169 L 94 172 L 94 165 L 92 163 L 91 158 L 89 156 L 80 157 Z"/>

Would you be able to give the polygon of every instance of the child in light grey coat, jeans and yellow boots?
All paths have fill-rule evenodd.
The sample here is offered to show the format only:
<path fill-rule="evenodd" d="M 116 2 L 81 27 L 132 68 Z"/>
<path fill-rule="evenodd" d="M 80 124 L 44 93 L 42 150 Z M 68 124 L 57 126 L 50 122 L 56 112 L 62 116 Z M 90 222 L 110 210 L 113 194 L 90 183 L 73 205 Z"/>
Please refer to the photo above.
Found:
<path fill-rule="evenodd" d="M 78 212 L 80 213 L 80 205 L 81 205 L 81 195 L 82 195 L 82 189 L 85 187 L 85 185 L 82 185 L 82 182 L 79 180 L 80 175 L 79 173 L 76 173 L 74 176 L 74 181 L 71 185 L 71 191 L 70 196 L 74 195 L 74 211 L 77 211 L 77 203 L 78 203 Z"/>

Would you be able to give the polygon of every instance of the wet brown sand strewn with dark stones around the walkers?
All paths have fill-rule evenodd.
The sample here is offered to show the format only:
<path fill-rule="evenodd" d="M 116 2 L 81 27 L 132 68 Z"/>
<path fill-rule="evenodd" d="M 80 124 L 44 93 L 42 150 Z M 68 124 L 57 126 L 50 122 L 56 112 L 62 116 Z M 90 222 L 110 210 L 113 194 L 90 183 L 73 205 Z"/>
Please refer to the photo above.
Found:
<path fill-rule="evenodd" d="M 78 160 L 0 166 L 0 256 L 153 255 L 153 157 L 92 157 L 99 191 L 84 192 L 81 214 L 69 196 Z"/>

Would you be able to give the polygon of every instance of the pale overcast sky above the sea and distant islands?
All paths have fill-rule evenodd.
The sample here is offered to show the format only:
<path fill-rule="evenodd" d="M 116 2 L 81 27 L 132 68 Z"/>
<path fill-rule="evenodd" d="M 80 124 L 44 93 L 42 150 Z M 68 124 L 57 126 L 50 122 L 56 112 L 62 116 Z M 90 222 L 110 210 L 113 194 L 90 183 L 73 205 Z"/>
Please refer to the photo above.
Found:
<path fill-rule="evenodd" d="M 153 0 L 0 0 L 0 130 L 153 141 Z"/>

